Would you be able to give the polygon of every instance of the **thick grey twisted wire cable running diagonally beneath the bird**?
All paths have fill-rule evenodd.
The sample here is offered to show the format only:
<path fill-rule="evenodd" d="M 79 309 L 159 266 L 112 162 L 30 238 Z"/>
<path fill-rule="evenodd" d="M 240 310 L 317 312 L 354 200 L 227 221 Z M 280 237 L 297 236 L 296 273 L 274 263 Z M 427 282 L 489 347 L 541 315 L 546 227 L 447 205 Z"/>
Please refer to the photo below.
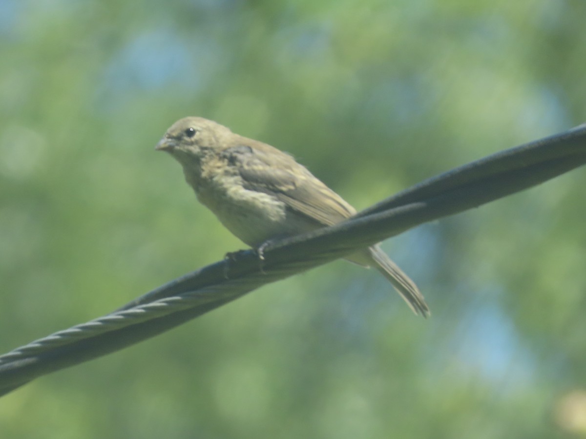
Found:
<path fill-rule="evenodd" d="M 355 217 L 203 267 L 110 314 L 0 355 L 0 395 L 30 380 L 168 331 L 254 289 L 427 221 L 536 186 L 586 163 L 586 125 L 504 150 L 387 198 Z"/>

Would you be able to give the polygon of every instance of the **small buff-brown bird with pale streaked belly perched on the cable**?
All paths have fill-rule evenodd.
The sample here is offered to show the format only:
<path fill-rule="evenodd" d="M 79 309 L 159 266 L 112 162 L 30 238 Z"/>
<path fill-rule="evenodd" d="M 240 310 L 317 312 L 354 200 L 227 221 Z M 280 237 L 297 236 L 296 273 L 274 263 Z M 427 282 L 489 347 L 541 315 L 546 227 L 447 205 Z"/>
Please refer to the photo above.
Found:
<path fill-rule="evenodd" d="M 175 157 L 197 199 L 253 248 L 269 239 L 336 224 L 356 213 L 287 153 L 208 119 L 179 119 L 155 149 Z M 378 245 L 346 259 L 375 267 L 415 314 L 430 314 L 415 283 Z"/>

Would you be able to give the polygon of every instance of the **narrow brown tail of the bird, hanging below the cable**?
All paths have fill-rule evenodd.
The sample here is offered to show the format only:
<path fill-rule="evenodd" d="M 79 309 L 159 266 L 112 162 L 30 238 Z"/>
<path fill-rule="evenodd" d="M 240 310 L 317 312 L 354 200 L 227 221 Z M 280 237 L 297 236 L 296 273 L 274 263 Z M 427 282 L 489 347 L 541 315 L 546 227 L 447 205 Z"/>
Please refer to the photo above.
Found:
<path fill-rule="evenodd" d="M 421 314 L 423 317 L 431 315 L 430 308 L 425 303 L 425 298 L 417 285 L 415 285 L 415 282 L 403 273 L 403 270 L 390 260 L 389 256 L 379 246 L 372 246 L 367 252 L 369 259 L 372 260 L 369 265 L 379 270 L 384 277 L 389 279 L 415 314 Z"/>

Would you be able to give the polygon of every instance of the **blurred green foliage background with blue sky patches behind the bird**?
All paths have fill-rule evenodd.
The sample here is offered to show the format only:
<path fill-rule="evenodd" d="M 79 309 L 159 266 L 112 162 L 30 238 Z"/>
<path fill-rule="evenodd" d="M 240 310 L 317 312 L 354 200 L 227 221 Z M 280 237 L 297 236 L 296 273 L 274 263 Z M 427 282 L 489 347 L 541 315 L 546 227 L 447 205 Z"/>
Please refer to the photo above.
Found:
<path fill-rule="evenodd" d="M 586 2 L 0 0 L 0 352 L 243 244 L 155 143 L 200 115 L 356 208 L 581 124 Z M 0 399 L 5 438 L 586 435 L 586 173 Z"/>

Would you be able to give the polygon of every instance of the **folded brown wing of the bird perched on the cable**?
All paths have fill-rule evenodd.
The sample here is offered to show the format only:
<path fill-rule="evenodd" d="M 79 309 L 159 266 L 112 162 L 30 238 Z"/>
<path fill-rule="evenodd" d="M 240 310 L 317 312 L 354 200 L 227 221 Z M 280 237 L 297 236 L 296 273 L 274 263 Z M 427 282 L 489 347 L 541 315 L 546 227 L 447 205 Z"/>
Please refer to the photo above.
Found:
<path fill-rule="evenodd" d="M 238 169 L 244 188 L 274 195 L 321 225 L 336 224 L 356 213 L 293 157 L 269 145 L 236 145 L 223 150 L 222 155 Z"/>

